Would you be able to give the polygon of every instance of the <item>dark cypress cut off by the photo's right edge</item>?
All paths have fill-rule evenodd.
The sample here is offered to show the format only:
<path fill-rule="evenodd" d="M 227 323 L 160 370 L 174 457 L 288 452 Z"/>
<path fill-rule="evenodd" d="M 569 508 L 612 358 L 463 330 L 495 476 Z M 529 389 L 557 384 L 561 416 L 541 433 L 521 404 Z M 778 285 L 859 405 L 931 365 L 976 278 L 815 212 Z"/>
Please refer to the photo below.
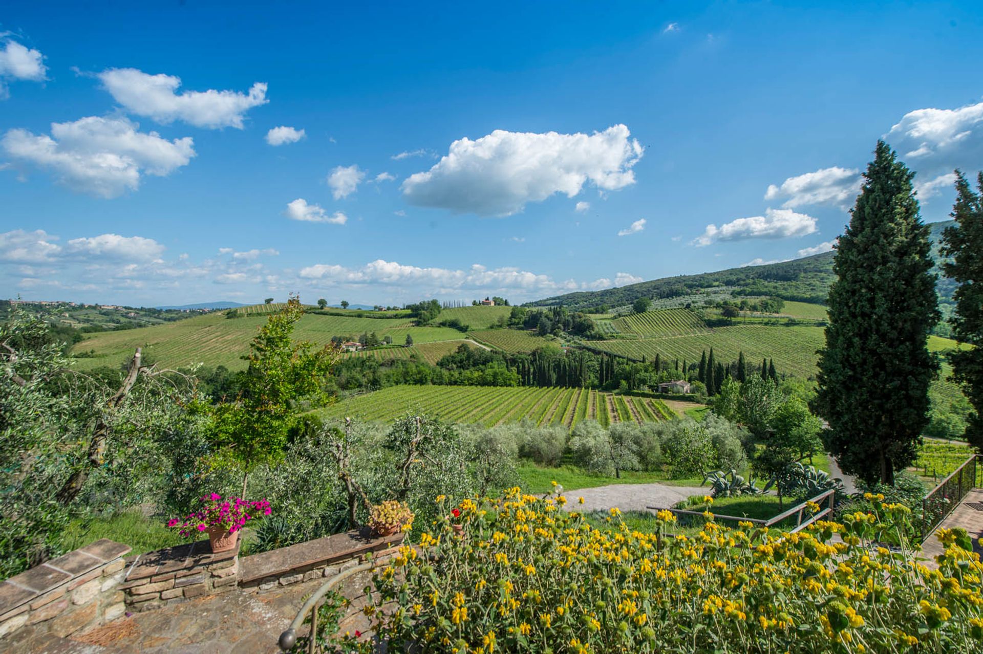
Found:
<path fill-rule="evenodd" d="M 955 227 L 943 234 L 943 254 L 953 261 L 943 269 L 958 283 L 953 293 L 955 311 L 950 322 L 960 348 L 950 354 L 955 381 L 975 411 L 969 415 L 966 440 L 983 449 L 983 172 L 976 178 L 979 192 L 973 192 L 962 173 L 955 171 L 955 204 L 950 214 Z"/>

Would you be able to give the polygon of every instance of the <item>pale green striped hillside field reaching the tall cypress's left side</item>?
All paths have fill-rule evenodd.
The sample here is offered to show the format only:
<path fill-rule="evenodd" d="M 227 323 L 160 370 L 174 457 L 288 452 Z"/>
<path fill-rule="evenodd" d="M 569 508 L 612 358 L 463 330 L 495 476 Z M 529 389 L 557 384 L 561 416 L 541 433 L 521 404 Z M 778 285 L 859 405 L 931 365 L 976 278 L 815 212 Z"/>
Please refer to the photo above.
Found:
<path fill-rule="evenodd" d="M 663 360 L 700 360 L 704 351 L 721 360 L 734 360 L 741 352 L 749 361 L 758 362 L 774 357 L 780 372 L 799 377 L 816 374 L 816 351 L 825 343 L 821 327 L 769 327 L 765 325 L 734 325 L 712 331 L 682 336 L 647 338 L 637 341 L 595 341 L 592 348 L 633 358 L 652 360 L 660 354 Z"/>

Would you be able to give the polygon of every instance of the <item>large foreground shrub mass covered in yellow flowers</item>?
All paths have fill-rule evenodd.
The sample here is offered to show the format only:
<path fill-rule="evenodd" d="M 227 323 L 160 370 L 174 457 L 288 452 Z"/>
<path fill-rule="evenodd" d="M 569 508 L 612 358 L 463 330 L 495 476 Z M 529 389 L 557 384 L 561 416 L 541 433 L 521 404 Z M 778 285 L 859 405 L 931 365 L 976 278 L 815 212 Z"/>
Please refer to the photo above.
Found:
<path fill-rule="evenodd" d="M 877 502 L 796 534 L 712 520 L 654 533 L 612 510 L 597 529 L 561 497 L 510 490 L 457 505 L 373 577 L 389 651 L 970 652 L 983 639 L 983 566 L 965 532 L 940 534 L 939 572 L 878 548 L 904 507 Z M 449 507 L 438 502 L 438 515 Z M 832 542 L 839 533 L 843 542 Z M 902 538 L 903 542 L 903 538 Z M 370 652 L 373 642 L 349 647 Z"/>

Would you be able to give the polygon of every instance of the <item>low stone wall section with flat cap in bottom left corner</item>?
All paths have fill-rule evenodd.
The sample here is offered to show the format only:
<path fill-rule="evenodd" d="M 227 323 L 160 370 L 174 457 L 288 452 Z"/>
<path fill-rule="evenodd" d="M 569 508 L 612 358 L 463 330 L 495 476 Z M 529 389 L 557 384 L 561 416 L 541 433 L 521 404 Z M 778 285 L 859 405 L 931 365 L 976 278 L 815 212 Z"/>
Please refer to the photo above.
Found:
<path fill-rule="evenodd" d="M 103 538 L 0 583 L 0 637 L 29 626 L 65 637 L 121 617 L 130 549 Z"/>

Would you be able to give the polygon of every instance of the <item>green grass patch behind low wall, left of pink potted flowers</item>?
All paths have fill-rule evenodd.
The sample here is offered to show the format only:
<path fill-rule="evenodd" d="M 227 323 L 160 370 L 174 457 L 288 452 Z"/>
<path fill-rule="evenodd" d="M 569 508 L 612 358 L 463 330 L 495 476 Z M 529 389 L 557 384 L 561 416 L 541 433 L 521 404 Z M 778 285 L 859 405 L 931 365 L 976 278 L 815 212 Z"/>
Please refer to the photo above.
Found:
<path fill-rule="evenodd" d="M 139 511 L 125 511 L 112 516 L 74 520 L 62 532 L 66 551 L 77 550 L 100 538 L 115 540 L 133 548 L 132 554 L 144 554 L 187 542 L 177 531 L 159 519 L 146 518 Z"/>

